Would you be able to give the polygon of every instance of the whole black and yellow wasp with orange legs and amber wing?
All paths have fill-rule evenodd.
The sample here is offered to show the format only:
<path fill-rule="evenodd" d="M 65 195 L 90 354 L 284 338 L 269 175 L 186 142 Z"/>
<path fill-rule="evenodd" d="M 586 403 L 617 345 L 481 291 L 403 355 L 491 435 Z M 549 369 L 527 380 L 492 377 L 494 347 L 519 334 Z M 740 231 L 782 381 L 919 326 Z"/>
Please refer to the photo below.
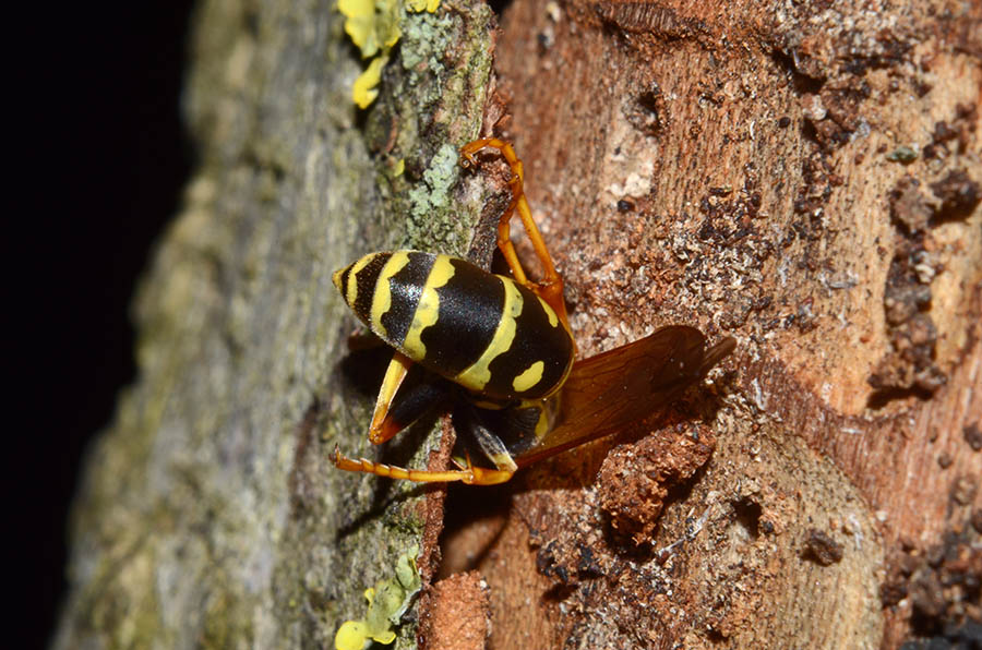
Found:
<path fill-rule="evenodd" d="M 424 412 L 450 401 L 463 454 L 455 469 L 429 471 L 351 459 L 335 447 L 334 465 L 410 481 L 503 483 L 523 467 L 639 422 L 702 378 L 735 347 L 707 347 L 682 325 L 574 360 L 563 279 L 532 219 L 524 169 L 511 143 L 465 145 L 462 165 L 495 149 L 511 170 L 511 200 L 498 222 L 498 248 L 511 276 L 466 260 L 400 250 L 371 253 L 334 274 L 355 314 L 395 349 L 375 401 L 369 440 L 381 444 Z M 517 213 L 542 268 L 525 273 L 511 240 Z M 471 453 L 493 467 L 475 465 Z"/>

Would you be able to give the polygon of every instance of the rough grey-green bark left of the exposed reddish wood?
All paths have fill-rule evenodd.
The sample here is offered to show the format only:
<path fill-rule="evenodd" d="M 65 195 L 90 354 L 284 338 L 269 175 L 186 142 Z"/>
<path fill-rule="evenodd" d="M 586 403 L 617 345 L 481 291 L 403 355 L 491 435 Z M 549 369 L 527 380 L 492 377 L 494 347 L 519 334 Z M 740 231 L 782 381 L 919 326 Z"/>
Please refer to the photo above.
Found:
<path fill-rule="evenodd" d="M 422 547 L 432 574 L 443 492 L 328 461 L 369 454 L 386 362 L 347 356 L 331 276 L 376 250 L 467 250 L 484 201 L 455 148 L 481 125 L 493 24 L 481 3 L 410 15 L 387 93 L 356 112 L 363 63 L 334 2 L 199 7 L 199 169 L 135 301 L 140 378 L 87 459 L 56 648 L 333 647 L 399 555 Z M 426 466 L 423 433 L 386 460 Z"/>

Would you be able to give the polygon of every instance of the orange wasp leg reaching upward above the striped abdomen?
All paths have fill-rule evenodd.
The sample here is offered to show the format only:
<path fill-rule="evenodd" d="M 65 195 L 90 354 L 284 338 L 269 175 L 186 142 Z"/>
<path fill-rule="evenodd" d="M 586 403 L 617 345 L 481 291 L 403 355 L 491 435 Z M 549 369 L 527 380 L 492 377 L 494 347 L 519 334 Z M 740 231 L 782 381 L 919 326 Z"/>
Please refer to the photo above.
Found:
<path fill-rule="evenodd" d="M 515 155 L 515 148 L 510 142 L 496 137 L 487 137 L 464 145 L 460 149 L 460 155 L 464 156 L 468 166 L 477 167 L 477 160 L 474 155 L 489 147 L 498 149 L 512 169 L 512 178 L 508 179 L 508 186 L 512 190 L 512 202 L 498 221 L 498 248 L 508 263 L 515 280 L 539 294 L 552 308 L 552 311 L 562 321 L 563 326 L 568 330 L 570 323 L 566 317 L 566 303 L 563 301 L 563 278 L 555 270 L 552 256 L 549 254 L 549 249 L 546 248 L 546 241 L 542 239 L 535 219 L 532 219 L 531 208 L 525 198 L 525 190 L 523 188 L 525 170 L 522 160 Z M 512 243 L 511 220 L 516 208 L 518 217 L 522 219 L 522 226 L 525 228 L 525 232 L 528 234 L 528 239 L 536 251 L 536 256 L 542 264 L 543 277 L 539 282 L 529 281 L 522 263 L 518 261 L 518 255 L 515 253 L 515 245 Z"/>

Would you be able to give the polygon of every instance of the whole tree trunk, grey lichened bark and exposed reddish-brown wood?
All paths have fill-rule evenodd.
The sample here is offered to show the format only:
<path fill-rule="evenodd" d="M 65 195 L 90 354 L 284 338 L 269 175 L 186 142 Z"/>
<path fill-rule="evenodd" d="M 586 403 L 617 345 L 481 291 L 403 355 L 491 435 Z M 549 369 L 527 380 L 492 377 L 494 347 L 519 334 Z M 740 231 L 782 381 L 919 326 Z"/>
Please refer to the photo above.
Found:
<path fill-rule="evenodd" d="M 399 648 L 895 648 L 980 619 L 978 1 L 516 0 L 496 46 L 487 7 L 444 2 L 407 14 L 364 112 L 333 3 L 199 11 L 200 170 L 56 647 L 330 647 L 415 544 Z M 327 459 L 371 456 L 386 361 L 347 354 L 331 274 L 483 257 L 500 185 L 454 149 L 492 125 L 580 356 L 670 323 L 739 347 L 658 421 L 455 488 L 436 581 L 445 491 Z M 445 464 L 424 434 L 382 458 Z"/>

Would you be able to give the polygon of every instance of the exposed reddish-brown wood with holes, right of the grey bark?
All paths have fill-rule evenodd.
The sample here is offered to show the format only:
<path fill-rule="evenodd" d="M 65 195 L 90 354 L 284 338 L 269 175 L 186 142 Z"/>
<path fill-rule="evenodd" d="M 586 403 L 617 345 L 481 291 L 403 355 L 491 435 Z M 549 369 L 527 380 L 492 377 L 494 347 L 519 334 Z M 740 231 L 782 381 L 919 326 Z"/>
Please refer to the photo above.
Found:
<path fill-rule="evenodd" d="M 896 648 L 978 621 L 980 16 L 507 8 L 500 127 L 580 353 L 669 323 L 739 349 L 668 417 L 715 433 L 693 478 L 652 490 L 666 449 L 638 435 L 676 429 L 651 423 L 452 519 L 491 647 Z"/>

